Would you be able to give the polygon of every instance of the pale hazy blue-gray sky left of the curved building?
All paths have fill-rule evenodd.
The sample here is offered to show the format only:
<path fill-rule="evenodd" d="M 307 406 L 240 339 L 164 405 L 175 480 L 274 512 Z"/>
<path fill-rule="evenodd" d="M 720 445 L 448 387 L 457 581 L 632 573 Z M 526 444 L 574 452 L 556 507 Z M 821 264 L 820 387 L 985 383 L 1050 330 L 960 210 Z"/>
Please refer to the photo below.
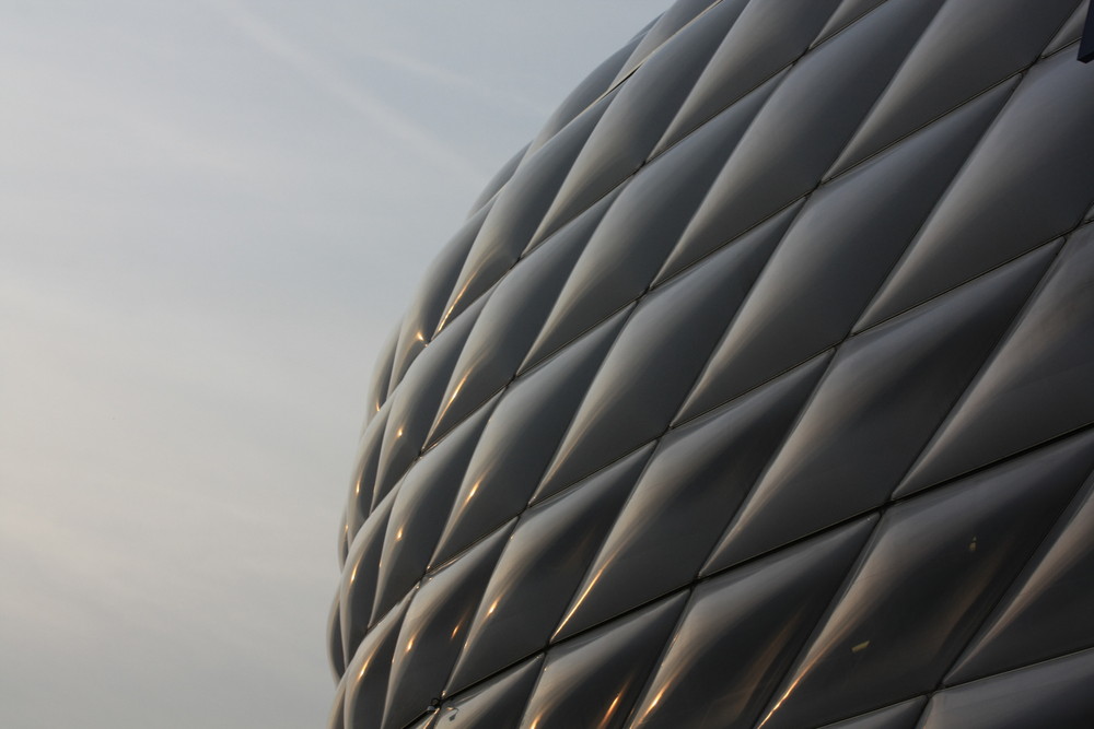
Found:
<path fill-rule="evenodd" d="M 0 726 L 324 726 L 369 373 L 670 0 L 0 0 Z"/>

